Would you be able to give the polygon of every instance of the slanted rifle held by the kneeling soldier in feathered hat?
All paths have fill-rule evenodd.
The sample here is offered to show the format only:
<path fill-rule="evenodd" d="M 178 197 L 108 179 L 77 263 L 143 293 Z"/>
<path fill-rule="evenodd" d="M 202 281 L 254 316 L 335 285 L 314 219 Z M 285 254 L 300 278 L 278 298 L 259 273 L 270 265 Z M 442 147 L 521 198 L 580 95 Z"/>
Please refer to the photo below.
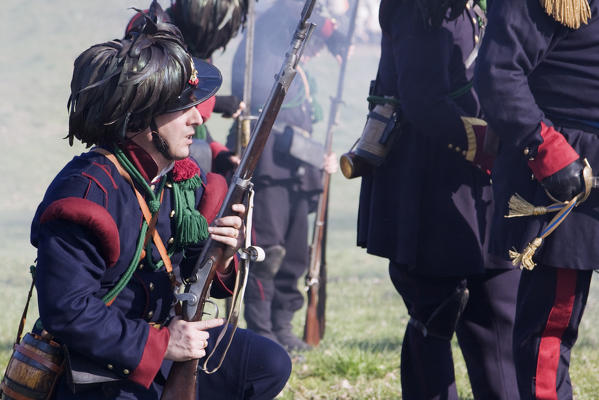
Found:
<path fill-rule="evenodd" d="M 247 200 L 251 192 L 251 178 L 258 163 L 258 159 L 264 150 L 266 140 L 270 134 L 271 128 L 275 122 L 281 104 L 289 90 L 296 73 L 297 64 L 302 56 L 306 43 L 312 34 L 315 25 L 307 20 L 312 14 L 316 0 L 306 0 L 302 10 L 301 19 L 295 29 L 291 44 L 285 54 L 285 60 L 279 73 L 276 75 L 276 81 L 270 91 L 268 100 L 260 114 L 256 126 L 252 131 L 252 136 L 248 146 L 241 158 L 241 162 L 231 179 L 229 191 L 225 197 L 223 205 L 218 212 L 217 218 L 232 215 L 231 207 L 233 204 L 243 203 Z M 208 294 L 212 280 L 216 274 L 216 267 L 223 261 L 224 245 L 208 239 L 198 261 L 189 278 L 185 281 L 184 293 L 179 295 L 181 300 L 183 319 L 186 321 L 200 321 L 204 314 L 204 305 L 209 301 Z M 252 255 L 246 255 L 251 258 Z M 242 256 L 243 258 L 243 256 Z M 247 273 L 240 269 L 240 274 Z M 245 279 L 247 276 L 245 276 Z M 236 291 L 237 292 L 237 291 Z M 237 296 L 240 297 L 240 296 Z M 235 301 L 235 300 L 234 300 Z M 227 325 L 222 329 L 221 334 L 227 329 Z M 233 328 L 234 329 L 234 328 Z M 220 339 L 220 336 L 219 336 Z M 229 338 L 232 339 L 232 334 Z M 218 341 L 218 340 L 217 340 Z M 214 351 L 210 354 L 212 355 Z M 226 354 L 226 349 L 225 349 Z M 204 369 L 206 370 L 206 356 Z M 224 354 L 223 354 L 224 357 Z M 221 358 L 222 362 L 222 358 Z M 196 377 L 198 374 L 199 360 L 189 360 L 175 362 L 170 370 L 166 380 L 161 399 L 164 400 L 195 400 L 196 397 Z M 220 364 L 219 364 L 220 366 Z M 216 368 L 218 369 L 218 367 Z M 207 371 L 211 373 L 216 371 Z"/>

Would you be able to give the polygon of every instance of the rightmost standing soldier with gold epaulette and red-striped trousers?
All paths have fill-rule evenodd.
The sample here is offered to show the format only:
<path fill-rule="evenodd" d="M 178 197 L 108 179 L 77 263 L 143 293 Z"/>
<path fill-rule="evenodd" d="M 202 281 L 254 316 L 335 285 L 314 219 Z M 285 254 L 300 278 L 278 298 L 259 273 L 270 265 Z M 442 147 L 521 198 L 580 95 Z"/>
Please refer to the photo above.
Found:
<path fill-rule="evenodd" d="M 500 138 L 491 251 L 506 259 L 529 243 L 535 253 L 552 217 L 506 219 L 509 199 L 569 201 L 590 189 L 583 159 L 599 165 L 599 2 L 566 3 L 503 0 L 490 9 L 475 83 Z M 572 398 L 570 352 L 599 264 L 598 201 L 592 193 L 523 258 L 534 268 L 522 273 L 514 328 L 523 399 Z"/>

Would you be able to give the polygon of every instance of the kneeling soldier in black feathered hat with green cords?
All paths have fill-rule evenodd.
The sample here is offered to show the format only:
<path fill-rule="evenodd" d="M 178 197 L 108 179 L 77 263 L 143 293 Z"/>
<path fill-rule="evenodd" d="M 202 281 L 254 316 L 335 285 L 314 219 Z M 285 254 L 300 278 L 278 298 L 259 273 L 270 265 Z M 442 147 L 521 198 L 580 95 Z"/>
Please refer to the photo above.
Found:
<path fill-rule="evenodd" d="M 223 323 L 171 315 L 208 236 L 226 248 L 212 295 L 230 295 L 235 280 L 242 221 L 208 227 L 226 184 L 188 158 L 195 105 L 220 73 L 192 61 L 174 25 L 145 21 L 75 60 L 68 138 L 94 148 L 57 175 L 32 223 L 41 324 L 70 360 L 60 399 L 158 398 L 161 368 L 204 357 Z M 284 349 L 241 330 L 221 369 L 197 379 L 207 399 L 268 399 L 290 372 Z"/>

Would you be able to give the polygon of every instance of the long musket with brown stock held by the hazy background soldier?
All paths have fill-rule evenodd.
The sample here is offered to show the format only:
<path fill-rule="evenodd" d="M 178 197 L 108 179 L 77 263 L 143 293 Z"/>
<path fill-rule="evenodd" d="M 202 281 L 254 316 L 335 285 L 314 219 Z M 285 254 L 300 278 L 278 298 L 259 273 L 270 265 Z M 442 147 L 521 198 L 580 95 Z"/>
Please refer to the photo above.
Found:
<path fill-rule="evenodd" d="M 356 0 L 354 5 L 349 28 L 347 31 L 347 45 L 339 70 L 337 80 L 337 94 L 331 98 L 331 107 L 329 110 L 329 120 L 325 139 L 326 154 L 330 154 L 333 147 L 333 129 L 338 125 L 338 114 L 341 104 L 343 104 L 343 84 L 345 81 L 345 71 L 347 69 L 347 60 L 352 43 L 352 38 L 356 28 L 356 15 L 360 1 Z M 318 199 L 318 208 L 314 219 L 314 228 L 312 230 L 312 243 L 310 245 L 310 267 L 306 275 L 306 290 L 308 292 L 308 305 L 306 308 L 306 323 L 304 325 L 304 341 L 312 346 L 317 346 L 320 339 L 324 337 L 325 331 L 325 304 L 326 304 L 326 232 L 328 220 L 329 190 L 331 175 L 323 172 L 322 186 L 323 191 Z"/>

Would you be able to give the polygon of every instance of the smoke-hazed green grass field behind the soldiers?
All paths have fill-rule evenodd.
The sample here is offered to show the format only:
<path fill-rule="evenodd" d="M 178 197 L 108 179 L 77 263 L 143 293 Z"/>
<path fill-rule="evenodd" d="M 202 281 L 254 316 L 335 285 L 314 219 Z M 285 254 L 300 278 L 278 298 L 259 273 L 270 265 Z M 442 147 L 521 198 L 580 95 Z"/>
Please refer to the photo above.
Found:
<path fill-rule="evenodd" d="M 162 3 L 166 3 L 162 1 Z M 10 357 L 35 258 L 29 245 L 29 224 L 48 183 L 82 147 L 69 148 L 66 101 L 74 58 L 90 45 L 120 37 L 132 15 L 127 7 L 147 7 L 149 0 L 52 2 L 8 0 L 3 3 L 0 33 L 0 161 L 4 190 L 0 196 L 0 370 Z M 67 10 L 68 11 L 65 11 Z M 221 93 L 228 94 L 233 41 L 215 64 L 223 71 Z M 366 94 L 378 62 L 376 46 L 358 46 L 346 76 L 345 106 L 336 130 L 338 154 L 360 134 L 366 114 Z M 319 84 L 316 98 L 328 111 L 335 92 L 336 61 L 321 55 L 309 72 Z M 326 121 L 326 114 L 325 114 Z M 213 118 L 211 132 L 223 140 L 230 121 Z M 326 124 L 317 126 L 322 138 Z M 281 399 L 398 399 L 400 349 L 408 316 L 387 277 L 385 260 L 355 247 L 359 181 L 334 176 L 328 243 L 327 330 L 320 346 L 296 360 Z M 300 284 L 303 284 L 300 282 Z M 599 289 L 592 293 L 572 354 L 572 381 L 578 400 L 599 398 Z M 30 312 L 28 328 L 35 320 Z M 294 328 L 303 330 L 305 311 L 296 314 Z M 241 322 L 244 325 L 244 322 Z M 458 389 L 471 399 L 466 368 L 454 345 Z"/>

